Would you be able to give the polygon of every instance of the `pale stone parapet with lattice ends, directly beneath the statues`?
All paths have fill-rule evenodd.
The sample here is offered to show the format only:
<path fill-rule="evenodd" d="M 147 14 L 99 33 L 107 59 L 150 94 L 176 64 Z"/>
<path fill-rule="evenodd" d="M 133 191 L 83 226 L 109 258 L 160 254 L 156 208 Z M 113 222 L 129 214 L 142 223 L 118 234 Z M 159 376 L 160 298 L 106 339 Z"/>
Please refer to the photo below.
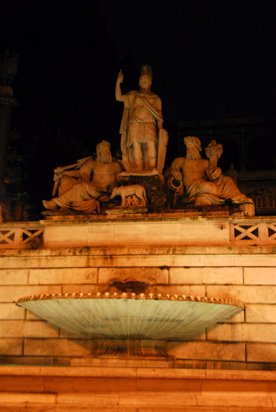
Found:
<path fill-rule="evenodd" d="M 165 223 L 165 224 L 164 224 Z M 276 244 L 276 218 L 148 215 L 93 216 L 90 220 L 41 220 L 0 224 L 0 249 L 107 246 L 110 244 Z"/>

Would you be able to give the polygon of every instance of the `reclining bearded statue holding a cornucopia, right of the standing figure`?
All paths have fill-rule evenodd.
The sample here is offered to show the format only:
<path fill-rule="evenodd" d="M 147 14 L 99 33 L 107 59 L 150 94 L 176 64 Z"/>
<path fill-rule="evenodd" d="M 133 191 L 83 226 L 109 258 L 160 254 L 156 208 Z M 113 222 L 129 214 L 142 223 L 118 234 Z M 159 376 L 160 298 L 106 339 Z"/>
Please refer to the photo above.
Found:
<path fill-rule="evenodd" d="M 242 194 L 229 176 L 224 176 L 217 167 L 222 154 L 222 145 L 213 140 L 205 148 L 208 159 L 200 156 L 200 139 L 194 136 L 184 138 L 186 157 L 178 157 L 165 172 L 168 184 L 176 190 L 176 196 L 183 194 L 195 206 L 221 205 L 225 201 L 240 205 L 246 216 L 254 216 L 255 208 L 251 198 Z"/>

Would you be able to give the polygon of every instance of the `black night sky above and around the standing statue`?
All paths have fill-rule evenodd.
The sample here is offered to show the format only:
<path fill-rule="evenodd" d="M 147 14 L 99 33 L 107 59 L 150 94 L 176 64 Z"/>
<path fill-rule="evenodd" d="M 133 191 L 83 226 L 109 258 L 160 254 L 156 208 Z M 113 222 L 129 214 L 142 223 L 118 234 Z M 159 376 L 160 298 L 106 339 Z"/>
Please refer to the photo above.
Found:
<path fill-rule="evenodd" d="M 180 121 L 275 115 L 275 10 L 275 0 L 6 1 L 0 52 L 21 58 L 12 113 L 21 146 L 41 148 L 30 156 L 44 157 L 36 168 L 49 176 L 102 139 L 114 152 L 117 73 L 124 93 L 135 90 L 142 64 L 172 146 Z"/>

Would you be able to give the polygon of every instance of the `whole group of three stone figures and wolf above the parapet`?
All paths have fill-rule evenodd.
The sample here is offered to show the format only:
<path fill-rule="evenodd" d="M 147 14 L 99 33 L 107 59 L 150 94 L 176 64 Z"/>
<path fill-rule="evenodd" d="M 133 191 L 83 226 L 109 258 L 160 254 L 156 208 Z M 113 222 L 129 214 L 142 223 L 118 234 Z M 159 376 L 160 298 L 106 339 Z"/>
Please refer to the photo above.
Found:
<path fill-rule="evenodd" d="M 114 208 L 113 198 L 121 196 L 121 208 L 141 209 L 150 202 L 146 189 L 150 179 L 159 179 L 161 185 L 174 193 L 172 205 L 178 199 L 183 205 L 204 207 L 237 205 L 244 216 L 254 216 L 254 204 L 240 192 L 230 176 L 222 174 L 218 160 L 222 145 L 216 141 L 205 148 L 206 159 L 200 155 L 200 139 L 184 138 L 186 157 L 176 158 L 163 173 L 168 133 L 163 128 L 161 99 L 150 90 L 152 69 L 141 67 L 139 91 L 122 94 L 124 75 L 119 71 L 115 97 L 124 103 L 120 126 L 122 164 L 113 161 L 108 141 L 97 144 L 97 159 L 88 157 L 77 163 L 54 170 L 54 191 L 51 201 L 43 201 L 49 210 L 78 210 L 101 213 Z M 133 184 L 135 179 L 135 184 Z M 165 179 L 165 180 L 164 180 Z M 125 184 L 127 181 L 128 184 Z"/>

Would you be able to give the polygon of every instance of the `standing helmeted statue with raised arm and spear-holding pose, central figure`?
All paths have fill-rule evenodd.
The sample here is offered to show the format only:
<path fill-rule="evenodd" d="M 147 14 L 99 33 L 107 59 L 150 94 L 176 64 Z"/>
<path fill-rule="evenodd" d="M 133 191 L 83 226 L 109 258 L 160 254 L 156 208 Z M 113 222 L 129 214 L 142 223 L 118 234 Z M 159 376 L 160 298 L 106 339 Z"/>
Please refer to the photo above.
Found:
<path fill-rule="evenodd" d="M 123 79 L 121 70 L 117 77 L 115 96 L 116 100 L 124 102 L 120 127 L 124 167 L 127 172 L 141 172 L 157 168 L 162 173 L 168 133 L 163 129 L 161 99 L 150 91 L 152 69 L 148 65 L 141 67 L 139 91 L 129 91 L 122 95 L 120 83 Z M 159 130 L 158 138 L 157 129 Z"/>

